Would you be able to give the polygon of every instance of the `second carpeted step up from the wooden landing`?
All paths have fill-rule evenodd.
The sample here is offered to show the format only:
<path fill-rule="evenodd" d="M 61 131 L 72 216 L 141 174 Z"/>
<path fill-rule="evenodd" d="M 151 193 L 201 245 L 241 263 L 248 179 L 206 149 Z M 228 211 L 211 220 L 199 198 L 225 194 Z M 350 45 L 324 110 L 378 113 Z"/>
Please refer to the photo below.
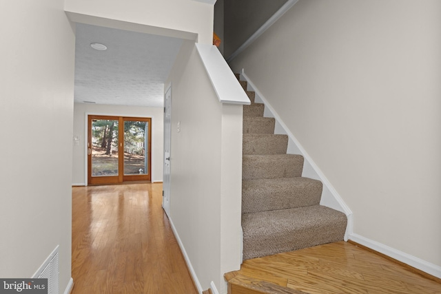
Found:
<path fill-rule="evenodd" d="M 255 213 L 320 204 L 323 185 L 311 178 L 242 181 L 242 213 Z"/>

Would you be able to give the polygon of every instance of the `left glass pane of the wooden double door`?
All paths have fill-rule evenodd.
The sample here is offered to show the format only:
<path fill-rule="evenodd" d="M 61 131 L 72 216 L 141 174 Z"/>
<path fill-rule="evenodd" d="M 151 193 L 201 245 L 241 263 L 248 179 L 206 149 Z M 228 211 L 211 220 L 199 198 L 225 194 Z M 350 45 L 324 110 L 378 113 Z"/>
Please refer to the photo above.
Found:
<path fill-rule="evenodd" d="M 92 176 L 118 176 L 118 120 L 92 120 Z"/>

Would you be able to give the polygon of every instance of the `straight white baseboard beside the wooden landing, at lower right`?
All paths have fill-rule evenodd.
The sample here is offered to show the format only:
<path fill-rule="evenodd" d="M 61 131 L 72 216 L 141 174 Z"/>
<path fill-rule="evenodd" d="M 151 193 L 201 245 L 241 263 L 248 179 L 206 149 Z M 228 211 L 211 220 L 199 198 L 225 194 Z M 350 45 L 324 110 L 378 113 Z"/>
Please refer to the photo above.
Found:
<path fill-rule="evenodd" d="M 430 262 L 427 262 L 420 258 L 416 258 L 413 255 L 404 253 L 397 249 L 393 249 L 379 242 L 370 240 L 356 233 L 351 233 L 351 235 L 349 235 L 349 240 L 357 242 L 360 245 L 367 246 L 368 248 L 387 255 L 395 260 L 398 260 L 399 262 L 409 264 L 409 266 L 412 266 L 416 269 L 419 269 L 420 271 L 424 271 L 424 273 L 429 273 L 429 275 L 433 275 L 434 277 L 438 277 L 441 279 L 441 266 L 431 264 Z"/>

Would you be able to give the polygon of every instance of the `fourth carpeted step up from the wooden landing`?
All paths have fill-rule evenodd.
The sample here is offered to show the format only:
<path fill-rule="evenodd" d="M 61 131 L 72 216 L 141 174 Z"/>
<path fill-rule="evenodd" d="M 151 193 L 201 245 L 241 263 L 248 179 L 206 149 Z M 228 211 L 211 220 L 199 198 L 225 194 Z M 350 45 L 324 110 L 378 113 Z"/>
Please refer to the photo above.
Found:
<path fill-rule="evenodd" d="M 243 134 L 243 154 L 286 154 L 287 135 Z"/>

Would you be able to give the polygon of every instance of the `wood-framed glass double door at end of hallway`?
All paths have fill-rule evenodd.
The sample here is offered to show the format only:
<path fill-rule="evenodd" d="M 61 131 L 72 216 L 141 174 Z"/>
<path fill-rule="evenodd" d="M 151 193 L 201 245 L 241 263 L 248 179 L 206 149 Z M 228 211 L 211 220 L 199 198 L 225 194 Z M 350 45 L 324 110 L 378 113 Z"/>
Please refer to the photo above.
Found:
<path fill-rule="evenodd" d="M 152 119 L 88 116 L 88 185 L 151 180 Z"/>

